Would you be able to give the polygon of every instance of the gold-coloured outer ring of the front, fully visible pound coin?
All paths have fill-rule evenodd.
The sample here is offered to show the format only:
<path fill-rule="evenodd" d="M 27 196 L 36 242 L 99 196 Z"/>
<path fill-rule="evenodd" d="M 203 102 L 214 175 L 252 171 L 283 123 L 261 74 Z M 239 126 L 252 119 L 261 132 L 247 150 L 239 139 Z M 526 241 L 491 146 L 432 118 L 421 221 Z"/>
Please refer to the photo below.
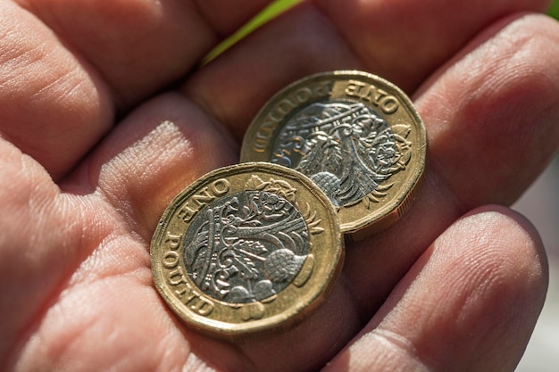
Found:
<path fill-rule="evenodd" d="M 193 218 L 214 201 L 249 190 L 288 194 L 304 216 L 310 248 L 296 277 L 274 297 L 219 301 L 204 293 L 188 272 L 185 236 Z M 235 340 L 273 335 L 307 317 L 330 294 L 343 256 L 338 216 L 328 197 L 301 173 L 270 163 L 233 165 L 199 178 L 172 200 L 151 242 L 154 283 L 171 310 L 188 327 Z"/>

